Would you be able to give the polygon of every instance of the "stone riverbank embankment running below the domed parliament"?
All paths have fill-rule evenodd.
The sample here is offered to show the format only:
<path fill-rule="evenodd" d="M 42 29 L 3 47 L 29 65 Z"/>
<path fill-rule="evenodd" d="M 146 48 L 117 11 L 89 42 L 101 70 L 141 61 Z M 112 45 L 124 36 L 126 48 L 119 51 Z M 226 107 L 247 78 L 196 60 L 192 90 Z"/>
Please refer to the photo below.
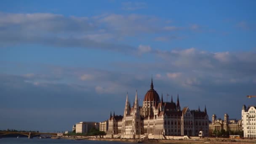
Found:
<path fill-rule="evenodd" d="M 156 140 L 156 139 L 105 139 L 89 138 L 91 141 L 122 141 L 133 143 L 163 143 L 163 144 L 256 144 L 256 140 L 250 139 L 221 139 L 221 138 L 203 138 L 203 139 L 182 139 L 182 140 Z"/>

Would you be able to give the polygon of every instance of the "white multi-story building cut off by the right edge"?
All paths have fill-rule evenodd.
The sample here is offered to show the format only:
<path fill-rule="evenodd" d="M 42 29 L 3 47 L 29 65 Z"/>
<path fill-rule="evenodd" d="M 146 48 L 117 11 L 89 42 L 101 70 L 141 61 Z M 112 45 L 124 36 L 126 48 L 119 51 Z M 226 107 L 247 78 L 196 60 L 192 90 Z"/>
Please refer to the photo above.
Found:
<path fill-rule="evenodd" d="M 243 105 L 242 108 L 243 136 L 256 138 L 256 106 Z"/>

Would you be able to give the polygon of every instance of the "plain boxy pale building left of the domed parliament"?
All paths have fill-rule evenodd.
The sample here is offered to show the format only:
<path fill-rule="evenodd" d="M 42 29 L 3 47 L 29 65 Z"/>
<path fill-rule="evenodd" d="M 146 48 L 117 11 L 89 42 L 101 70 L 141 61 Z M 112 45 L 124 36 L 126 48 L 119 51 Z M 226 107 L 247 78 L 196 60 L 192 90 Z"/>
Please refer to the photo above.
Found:
<path fill-rule="evenodd" d="M 88 133 L 91 128 L 99 129 L 99 123 L 96 122 L 80 122 L 75 124 L 75 133 Z"/>

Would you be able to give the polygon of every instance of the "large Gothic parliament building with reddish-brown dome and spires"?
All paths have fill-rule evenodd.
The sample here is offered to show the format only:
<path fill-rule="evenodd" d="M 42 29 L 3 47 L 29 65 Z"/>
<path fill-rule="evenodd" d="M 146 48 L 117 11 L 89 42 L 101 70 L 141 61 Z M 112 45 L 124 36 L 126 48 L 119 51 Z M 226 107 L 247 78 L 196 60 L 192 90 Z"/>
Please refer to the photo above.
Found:
<path fill-rule="evenodd" d="M 152 135 L 154 139 L 165 139 L 165 136 L 198 136 L 199 131 L 207 136 L 208 122 L 206 107 L 204 111 L 190 110 L 188 107 L 181 109 L 179 95 L 177 103 L 173 102 L 172 97 L 170 102 L 164 102 L 163 94 L 160 100 L 151 80 L 151 88 L 144 96 L 142 107 L 139 106 L 136 91 L 133 107 L 127 94 L 124 115 L 110 115 L 106 137 L 138 139 Z"/>

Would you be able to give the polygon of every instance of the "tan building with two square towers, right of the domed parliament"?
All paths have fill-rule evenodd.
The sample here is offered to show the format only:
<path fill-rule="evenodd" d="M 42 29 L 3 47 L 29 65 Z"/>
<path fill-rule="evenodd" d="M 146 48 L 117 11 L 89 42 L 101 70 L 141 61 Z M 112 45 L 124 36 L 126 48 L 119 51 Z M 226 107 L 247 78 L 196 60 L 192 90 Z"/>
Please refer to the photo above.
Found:
<path fill-rule="evenodd" d="M 209 123 L 210 133 L 213 131 L 243 131 L 242 120 L 229 119 L 229 115 L 224 115 L 224 120 L 216 119 L 216 115 L 212 116 L 212 122 Z"/>

